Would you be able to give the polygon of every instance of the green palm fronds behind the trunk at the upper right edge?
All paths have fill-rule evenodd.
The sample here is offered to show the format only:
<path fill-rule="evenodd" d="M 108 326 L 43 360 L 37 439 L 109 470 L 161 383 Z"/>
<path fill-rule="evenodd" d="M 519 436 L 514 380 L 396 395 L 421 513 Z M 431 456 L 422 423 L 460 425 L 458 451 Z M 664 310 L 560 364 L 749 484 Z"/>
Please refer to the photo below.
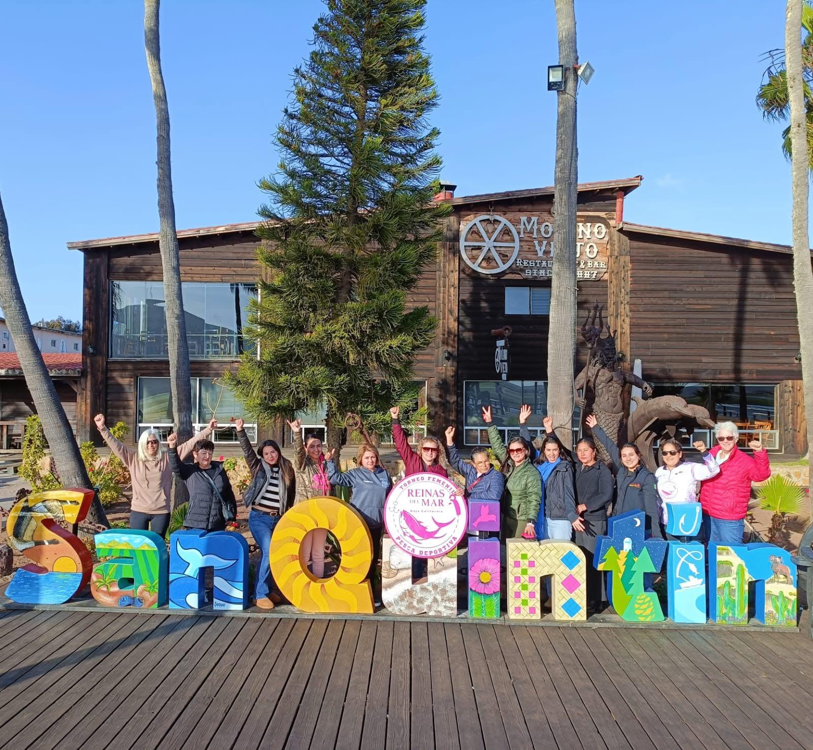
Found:
<path fill-rule="evenodd" d="M 807 168 L 813 170 L 813 3 L 804 0 L 802 4 L 802 89 L 804 91 L 804 113 L 806 120 Z M 764 58 L 768 62 L 763 82 L 757 92 L 757 107 L 767 120 L 787 122 L 790 116 L 790 98 L 786 54 L 784 49 L 769 50 Z M 782 131 L 782 150 L 790 158 L 790 126 Z"/>

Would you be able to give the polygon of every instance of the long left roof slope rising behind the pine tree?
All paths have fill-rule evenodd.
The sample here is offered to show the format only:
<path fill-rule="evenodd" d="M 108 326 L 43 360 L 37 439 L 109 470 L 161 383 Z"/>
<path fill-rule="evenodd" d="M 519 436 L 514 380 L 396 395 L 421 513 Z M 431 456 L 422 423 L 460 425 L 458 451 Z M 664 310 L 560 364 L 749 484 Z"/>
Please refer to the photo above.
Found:
<path fill-rule="evenodd" d="M 603 182 L 582 182 L 578 189 L 580 193 L 606 192 L 621 190 L 628 194 L 635 190 L 644 178 L 627 177 L 624 180 L 607 180 Z M 510 200 L 511 198 L 536 198 L 541 195 L 553 195 L 554 186 L 548 185 L 542 188 L 531 188 L 529 190 L 507 190 L 502 193 L 484 193 L 480 195 L 463 195 L 459 198 L 451 198 L 449 203 L 457 206 L 465 203 L 487 203 L 495 200 Z M 244 221 L 241 224 L 223 224 L 213 227 L 198 227 L 196 229 L 179 229 L 178 238 L 185 237 L 206 237 L 214 234 L 254 232 L 259 227 L 259 221 Z M 117 245 L 137 245 L 141 242 L 158 242 L 157 232 L 148 234 L 128 234 L 123 237 L 106 237 L 94 240 L 80 240 L 78 242 L 68 242 L 68 250 L 96 250 L 102 247 L 112 247 Z"/>

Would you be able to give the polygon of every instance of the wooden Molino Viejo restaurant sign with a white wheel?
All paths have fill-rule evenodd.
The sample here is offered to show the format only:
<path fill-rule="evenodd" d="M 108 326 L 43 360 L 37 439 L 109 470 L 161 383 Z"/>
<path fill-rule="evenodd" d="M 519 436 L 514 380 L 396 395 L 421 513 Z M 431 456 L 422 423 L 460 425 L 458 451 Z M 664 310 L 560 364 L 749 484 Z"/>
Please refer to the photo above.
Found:
<path fill-rule="evenodd" d="M 580 217 L 576 278 L 598 281 L 604 277 L 609 234 L 602 217 Z M 550 278 L 555 246 L 550 215 L 480 214 L 460 222 L 460 256 L 468 268 L 486 276 Z"/>

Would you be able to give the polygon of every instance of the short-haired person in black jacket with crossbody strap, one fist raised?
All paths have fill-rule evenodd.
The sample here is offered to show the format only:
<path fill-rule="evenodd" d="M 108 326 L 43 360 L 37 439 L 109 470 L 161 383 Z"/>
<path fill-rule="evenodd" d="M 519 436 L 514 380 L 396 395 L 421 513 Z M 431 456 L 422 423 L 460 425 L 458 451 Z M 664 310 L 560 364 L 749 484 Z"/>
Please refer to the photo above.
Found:
<path fill-rule="evenodd" d="M 172 473 L 184 480 L 189 491 L 184 528 L 223 531 L 228 521 L 237 518 L 237 500 L 223 464 L 211 460 L 215 443 L 198 440 L 193 448 L 194 464 L 181 463 L 177 444 L 178 436 L 172 433 L 167 438 L 169 465 Z"/>

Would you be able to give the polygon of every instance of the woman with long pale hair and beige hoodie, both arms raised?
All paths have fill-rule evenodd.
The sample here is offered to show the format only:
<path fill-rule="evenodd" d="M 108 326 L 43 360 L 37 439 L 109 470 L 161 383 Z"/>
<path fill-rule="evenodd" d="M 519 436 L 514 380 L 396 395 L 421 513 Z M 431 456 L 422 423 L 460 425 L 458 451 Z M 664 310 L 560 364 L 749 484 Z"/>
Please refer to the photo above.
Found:
<path fill-rule="evenodd" d="M 155 430 L 145 430 L 138 438 L 136 450 L 117 440 L 105 425 L 104 414 L 93 417 L 99 433 L 111 451 L 127 467 L 133 482 L 133 503 L 130 506 L 130 528 L 154 531 L 160 536 L 167 534 L 169 514 L 172 510 L 172 469 L 167 451 L 161 444 L 161 435 Z M 208 438 L 217 427 L 212 419 L 204 430 L 186 443 L 178 446 L 178 456 L 184 460 L 192 452 L 198 440 Z"/>

